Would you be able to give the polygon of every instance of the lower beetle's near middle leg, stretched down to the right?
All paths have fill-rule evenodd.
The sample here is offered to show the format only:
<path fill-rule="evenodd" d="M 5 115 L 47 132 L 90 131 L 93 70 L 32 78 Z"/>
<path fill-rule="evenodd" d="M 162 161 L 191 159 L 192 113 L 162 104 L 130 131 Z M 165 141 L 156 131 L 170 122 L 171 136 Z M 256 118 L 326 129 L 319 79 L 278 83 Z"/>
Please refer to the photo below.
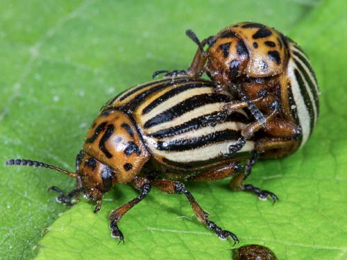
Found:
<path fill-rule="evenodd" d="M 160 190 L 164 191 L 165 193 L 170 194 L 184 194 L 190 205 L 192 206 L 192 209 L 198 218 L 200 223 L 203 223 L 206 225 L 209 229 L 211 229 L 214 233 L 219 236 L 220 239 L 228 239 L 230 236 L 234 240 L 234 245 L 239 242 L 239 239 L 237 239 L 237 236 L 233 234 L 232 232 L 229 232 L 228 230 L 221 229 L 216 223 L 208 220 L 208 212 L 204 211 L 200 205 L 198 205 L 198 202 L 196 202 L 195 198 L 192 196 L 192 193 L 190 193 L 187 189 L 185 189 L 185 185 L 181 182 L 175 182 L 172 180 L 154 180 L 153 185 L 155 187 L 158 187 Z"/>

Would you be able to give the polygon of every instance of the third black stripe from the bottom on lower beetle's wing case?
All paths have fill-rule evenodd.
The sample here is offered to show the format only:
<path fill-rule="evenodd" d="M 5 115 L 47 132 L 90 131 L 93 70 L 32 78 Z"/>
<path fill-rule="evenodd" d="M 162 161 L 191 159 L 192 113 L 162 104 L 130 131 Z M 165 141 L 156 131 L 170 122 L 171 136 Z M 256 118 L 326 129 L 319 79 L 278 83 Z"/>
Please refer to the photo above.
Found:
<path fill-rule="evenodd" d="M 174 135 L 180 135 L 184 132 L 189 132 L 191 130 L 196 130 L 200 128 L 204 128 L 205 126 L 215 126 L 219 123 L 224 122 L 240 122 L 240 123 L 249 123 L 248 119 L 244 114 L 239 112 L 232 112 L 229 115 L 226 115 L 223 112 L 214 112 L 210 114 L 204 114 L 203 116 L 196 117 L 192 120 L 189 120 L 180 125 L 173 126 L 171 128 L 166 128 L 162 130 L 158 130 L 149 134 L 149 137 L 154 137 L 158 139 L 162 139 L 164 137 L 172 137 Z"/>

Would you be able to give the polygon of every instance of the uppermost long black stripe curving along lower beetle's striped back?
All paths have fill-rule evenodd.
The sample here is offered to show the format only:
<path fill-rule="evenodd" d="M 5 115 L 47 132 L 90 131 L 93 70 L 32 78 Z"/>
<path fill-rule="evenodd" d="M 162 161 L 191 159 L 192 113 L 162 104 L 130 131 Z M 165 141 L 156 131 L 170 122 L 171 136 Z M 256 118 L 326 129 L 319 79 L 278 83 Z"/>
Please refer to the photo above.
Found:
<path fill-rule="evenodd" d="M 171 78 L 170 80 L 168 80 L 165 83 L 162 83 L 160 85 L 154 85 L 153 87 L 151 87 L 150 89 L 147 89 L 146 91 L 142 92 L 141 94 L 135 96 L 133 99 L 131 99 L 128 103 L 122 105 L 121 107 L 119 107 L 119 110 L 124 111 L 128 114 L 133 114 L 133 111 L 135 110 L 135 108 L 142 103 L 142 101 L 146 100 L 146 97 L 150 96 L 151 94 L 159 91 L 160 89 L 164 89 L 165 87 L 170 87 L 172 85 L 185 85 L 185 84 L 189 84 L 192 83 L 196 80 L 194 80 L 194 78 L 178 78 L 178 79 L 173 79 Z M 203 81 L 201 79 L 199 79 L 199 81 Z"/>

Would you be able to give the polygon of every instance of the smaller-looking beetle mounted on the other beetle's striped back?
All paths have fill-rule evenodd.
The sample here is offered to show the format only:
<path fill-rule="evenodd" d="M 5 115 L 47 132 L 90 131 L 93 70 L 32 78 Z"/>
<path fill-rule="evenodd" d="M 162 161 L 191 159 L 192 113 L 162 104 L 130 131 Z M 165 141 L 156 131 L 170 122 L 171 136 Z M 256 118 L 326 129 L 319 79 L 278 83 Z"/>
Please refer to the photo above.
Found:
<path fill-rule="evenodd" d="M 319 116 L 319 87 L 310 60 L 296 42 L 254 22 L 233 24 L 202 42 L 193 31 L 186 33 L 198 44 L 192 64 L 187 71 L 167 75 L 206 73 L 217 91 L 230 90 L 241 101 L 232 101 L 224 109 L 248 107 L 256 119 L 242 130 L 242 136 L 249 139 L 268 125 L 276 139 L 267 144 L 278 157 L 303 147 Z M 153 76 L 162 72 L 167 71 Z"/>

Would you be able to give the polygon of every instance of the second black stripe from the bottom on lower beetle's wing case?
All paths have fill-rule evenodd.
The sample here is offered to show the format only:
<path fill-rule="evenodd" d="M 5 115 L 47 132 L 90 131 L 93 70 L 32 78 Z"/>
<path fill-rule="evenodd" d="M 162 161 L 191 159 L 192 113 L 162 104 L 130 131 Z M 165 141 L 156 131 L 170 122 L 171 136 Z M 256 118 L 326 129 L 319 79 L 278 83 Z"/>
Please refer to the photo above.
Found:
<path fill-rule="evenodd" d="M 219 132 L 212 132 L 209 135 L 203 135 L 192 139 L 177 139 L 174 141 L 158 141 L 158 150 L 169 150 L 169 151 L 183 151 L 193 150 L 208 144 L 215 144 L 227 140 L 237 140 L 241 137 L 241 132 L 237 130 L 223 130 Z"/>

